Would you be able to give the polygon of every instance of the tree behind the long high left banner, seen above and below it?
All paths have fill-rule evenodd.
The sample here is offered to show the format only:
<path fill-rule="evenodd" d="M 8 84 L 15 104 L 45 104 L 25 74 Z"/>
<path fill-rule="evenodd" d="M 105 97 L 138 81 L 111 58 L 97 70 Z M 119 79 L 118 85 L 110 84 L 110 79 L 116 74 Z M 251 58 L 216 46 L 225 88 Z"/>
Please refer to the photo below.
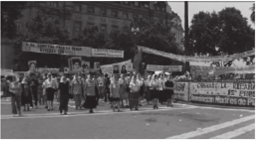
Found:
<path fill-rule="evenodd" d="M 44 11 L 39 10 L 36 16 L 31 21 L 26 23 L 26 32 L 15 40 L 15 48 L 21 50 L 22 42 L 29 41 L 32 43 L 45 43 L 56 45 L 71 45 L 69 32 L 61 26 L 58 17 L 51 17 L 46 15 Z M 22 52 L 20 60 L 27 66 L 26 62 L 29 60 L 37 60 L 37 64 L 49 67 L 59 67 L 62 61 L 61 55 Z"/>

